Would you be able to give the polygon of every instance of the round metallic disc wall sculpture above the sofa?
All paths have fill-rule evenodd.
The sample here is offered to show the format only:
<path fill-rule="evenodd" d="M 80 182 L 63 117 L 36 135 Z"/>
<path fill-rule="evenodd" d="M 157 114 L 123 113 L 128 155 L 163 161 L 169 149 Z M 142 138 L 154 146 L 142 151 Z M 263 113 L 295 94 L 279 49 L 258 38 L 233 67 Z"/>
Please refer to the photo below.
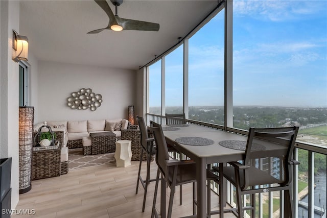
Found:
<path fill-rule="evenodd" d="M 97 110 L 101 106 L 102 95 L 92 92 L 90 88 L 81 88 L 79 91 L 72 93 L 72 96 L 67 98 L 67 105 L 72 109 Z"/>

